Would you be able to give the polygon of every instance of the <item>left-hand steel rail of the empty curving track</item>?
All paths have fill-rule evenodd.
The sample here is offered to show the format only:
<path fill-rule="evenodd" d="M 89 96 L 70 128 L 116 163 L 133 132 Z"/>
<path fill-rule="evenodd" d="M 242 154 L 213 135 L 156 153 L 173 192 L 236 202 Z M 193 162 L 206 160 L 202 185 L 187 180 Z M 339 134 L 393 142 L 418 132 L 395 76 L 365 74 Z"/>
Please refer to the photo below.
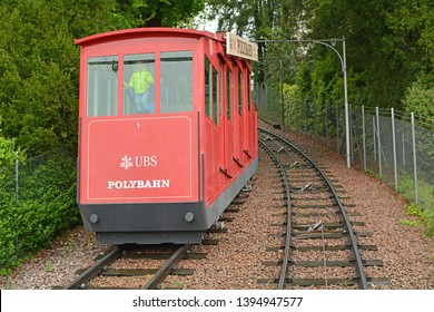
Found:
<path fill-rule="evenodd" d="M 289 253 L 290 248 L 293 246 L 293 220 L 292 220 L 292 212 L 290 212 L 290 194 L 289 194 L 289 182 L 288 177 L 286 175 L 285 167 L 282 165 L 280 160 L 276 157 L 276 155 L 273 153 L 273 150 L 266 145 L 266 143 L 263 139 L 259 139 L 259 145 L 267 150 L 269 156 L 273 158 L 273 160 L 276 163 L 276 165 L 279 168 L 284 187 L 285 187 L 285 196 L 286 196 L 286 205 L 287 205 L 287 220 L 286 220 L 286 238 L 285 238 L 285 253 L 284 253 L 284 260 L 282 263 L 282 270 L 280 270 L 280 276 L 278 282 L 278 290 L 285 289 L 285 282 L 286 282 L 286 275 L 288 272 L 288 263 L 289 263 Z"/>

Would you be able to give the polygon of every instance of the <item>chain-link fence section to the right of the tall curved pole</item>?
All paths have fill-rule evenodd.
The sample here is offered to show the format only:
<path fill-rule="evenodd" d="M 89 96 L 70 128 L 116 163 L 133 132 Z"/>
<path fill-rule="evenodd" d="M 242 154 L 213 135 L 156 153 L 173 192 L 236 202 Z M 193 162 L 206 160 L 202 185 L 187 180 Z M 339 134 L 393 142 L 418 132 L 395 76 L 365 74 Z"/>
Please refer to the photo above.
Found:
<path fill-rule="evenodd" d="M 364 108 L 353 111 L 354 162 L 424 209 L 434 205 L 434 127 L 414 114 Z M 353 145 L 354 147 L 354 145 Z"/>

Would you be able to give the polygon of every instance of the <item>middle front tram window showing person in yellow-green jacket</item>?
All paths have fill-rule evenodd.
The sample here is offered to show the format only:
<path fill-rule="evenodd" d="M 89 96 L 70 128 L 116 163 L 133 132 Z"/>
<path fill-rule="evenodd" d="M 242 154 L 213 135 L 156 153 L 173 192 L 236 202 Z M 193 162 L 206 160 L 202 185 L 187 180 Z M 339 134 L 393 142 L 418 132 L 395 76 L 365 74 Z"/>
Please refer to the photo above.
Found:
<path fill-rule="evenodd" d="M 155 113 L 155 55 L 124 57 L 124 115 Z"/>

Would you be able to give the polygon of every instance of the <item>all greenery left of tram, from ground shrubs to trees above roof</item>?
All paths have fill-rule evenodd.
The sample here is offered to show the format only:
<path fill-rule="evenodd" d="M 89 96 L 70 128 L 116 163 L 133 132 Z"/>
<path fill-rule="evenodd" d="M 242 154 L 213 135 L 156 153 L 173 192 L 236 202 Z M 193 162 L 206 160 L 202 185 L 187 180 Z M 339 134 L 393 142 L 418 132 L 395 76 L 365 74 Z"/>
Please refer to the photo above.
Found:
<path fill-rule="evenodd" d="M 73 40 L 122 28 L 180 26 L 203 7 L 204 0 L 0 2 L 0 274 L 79 221 Z M 28 166 L 31 159 L 39 160 Z"/>

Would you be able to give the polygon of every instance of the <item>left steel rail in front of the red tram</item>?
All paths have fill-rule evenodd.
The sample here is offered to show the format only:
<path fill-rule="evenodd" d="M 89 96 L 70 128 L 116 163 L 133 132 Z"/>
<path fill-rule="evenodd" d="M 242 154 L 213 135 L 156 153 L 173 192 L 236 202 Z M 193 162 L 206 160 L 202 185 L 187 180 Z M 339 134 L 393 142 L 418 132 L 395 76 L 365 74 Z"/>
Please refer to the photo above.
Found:
<path fill-rule="evenodd" d="M 97 263 L 77 276 L 71 283 L 63 287 L 63 290 L 82 290 L 83 284 L 91 281 L 95 276 L 101 273 L 102 269 L 112 263 L 115 260 L 121 256 L 125 248 L 122 246 L 115 246 L 112 251 L 101 257 Z"/>

